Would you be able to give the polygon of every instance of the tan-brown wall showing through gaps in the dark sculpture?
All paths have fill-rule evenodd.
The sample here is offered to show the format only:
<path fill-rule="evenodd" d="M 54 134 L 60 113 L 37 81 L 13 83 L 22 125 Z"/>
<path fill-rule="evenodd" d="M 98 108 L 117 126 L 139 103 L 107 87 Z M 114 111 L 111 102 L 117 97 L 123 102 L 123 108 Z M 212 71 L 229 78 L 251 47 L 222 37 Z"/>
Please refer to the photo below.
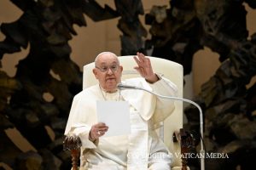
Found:
<path fill-rule="evenodd" d="M 97 1 L 104 7 L 104 4 L 108 4 L 111 8 L 115 8 L 114 2 L 111 0 L 106 1 Z M 144 0 L 143 9 L 145 13 L 149 13 L 150 9 L 153 5 L 167 5 L 170 8 L 169 1 L 147 1 Z M 250 8 L 247 3 L 244 3 L 247 10 L 247 30 L 248 30 L 248 38 L 250 38 L 253 33 L 256 32 L 256 12 L 253 8 Z M 19 8 L 17 8 L 13 3 L 9 0 L 2 0 L 0 2 L 0 24 L 2 23 L 12 23 L 15 20 L 20 18 L 23 12 Z M 139 16 L 143 26 L 148 30 L 150 26 L 145 25 L 143 16 Z M 86 63 L 91 62 L 96 54 L 102 51 L 113 51 L 116 54 L 121 54 L 121 43 L 119 36 L 122 35 L 122 32 L 117 28 L 119 18 L 111 19 L 111 20 L 102 20 L 95 22 L 91 20 L 87 15 L 84 14 L 84 18 L 86 19 L 87 26 L 77 26 L 74 25 L 74 30 L 77 32 L 77 35 L 72 35 L 72 38 L 68 41 L 69 45 L 72 48 L 72 52 L 70 54 L 71 59 L 75 62 L 75 64 L 79 65 L 80 71 L 82 70 L 82 66 Z M 151 35 L 148 34 L 146 38 L 150 38 Z M 3 41 L 4 35 L 0 32 L 0 41 Z M 4 54 L 2 62 L 1 71 L 6 71 L 9 77 L 14 77 L 16 74 L 15 65 L 18 64 L 20 59 L 25 59 L 27 54 L 29 54 L 29 50 L 31 49 L 30 43 L 27 48 L 22 48 L 21 52 L 13 53 L 13 54 Z M 150 52 L 148 52 L 150 54 Z M 201 85 L 204 82 L 207 82 L 210 77 L 215 74 L 215 71 L 218 70 L 218 67 L 221 65 L 219 61 L 219 54 L 212 52 L 210 48 L 204 47 L 203 49 L 197 51 L 194 54 L 193 58 L 193 66 L 192 71 L 189 75 L 185 76 L 186 84 L 184 97 L 193 98 L 197 94 L 201 92 Z M 55 77 L 54 73 L 52 73 Z M 250 83 L 247 84 L 247 88 L 251 87 L 255 82 L 255 77 L 253 77 Z M 51 100 L 52 95 L 48 93 L 44 93 L 44 99 Z M 255 115 L 255 114 L 254 114 Z M 50 139 L 55 139 L 55 133 L 49 126 L 44 126 L 47 132 L 50 134 Z M 31 144 L 28 144 L 26 140 L 23 140 L 20 133 L 18 133 L 15 129 L 9 128 L 6 130 L 10 139 L 15 141 L 15 144 L 22 151 L 27 150 L 36 150 L 32 147 Z"/>

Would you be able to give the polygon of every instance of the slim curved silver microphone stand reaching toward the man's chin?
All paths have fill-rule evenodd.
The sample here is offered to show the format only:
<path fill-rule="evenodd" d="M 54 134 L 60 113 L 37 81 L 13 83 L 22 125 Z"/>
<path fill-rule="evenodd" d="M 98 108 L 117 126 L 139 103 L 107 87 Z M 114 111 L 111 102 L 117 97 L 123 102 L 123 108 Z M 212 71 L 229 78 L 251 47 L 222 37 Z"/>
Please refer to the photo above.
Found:
<path fill-rule="evenodd" d="M 200 150 L 200 157 L 201 157 L 201 170 L 205 170 L 205 160 L 204 160 L 204 157 L 205 157 L 205 150 L 204 150 L 204 147 L 203 147 L 203 114 L 202 114 L 202 111 L 201 111 L 201 106 L 198 105 L 197 103 L 195 103 L 194 101 L 190 100 L 190 99 L 183 99 L 183 98 L 179 98 L 179 97 L 173 97 L 173 96 L 165 96 L 165 95 L 161 95 L 161 94 L 156 94 L 152 91 L 149 91 L 145 88 L 139 88 L 137 86 L 130 86 L 130 85 L 125 85 L 125 84 L 121 84 L 119 83 L 118 84 L 118 88 L 119 90 L 122 90 L 122 89 L 137 89 L 137 90 L 143 90 L 145 92 L 148 92 L 149 94 L 154 94 L 162 99 L 176 99 L 176 100 L 180 100 L 180 101 L 185 101 L 185 102 L 188 102 L 189 104 L 192 104 L 192 105 L 195 105 L 197 107 L 197 109 L 199 110 L 200 112 L 200 131 L 201 131 L 201 150 Z"/>

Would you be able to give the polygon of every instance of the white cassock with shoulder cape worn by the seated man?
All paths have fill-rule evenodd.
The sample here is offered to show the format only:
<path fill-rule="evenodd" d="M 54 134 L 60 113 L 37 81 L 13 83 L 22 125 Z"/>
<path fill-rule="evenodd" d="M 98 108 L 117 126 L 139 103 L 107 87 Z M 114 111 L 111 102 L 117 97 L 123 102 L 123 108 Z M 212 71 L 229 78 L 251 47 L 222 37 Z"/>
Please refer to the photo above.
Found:
<path fill-rule="evenodd" d="M 164 77 L 153 84 L 143 78 L 127 79 L 123 83 L 146 88 L 157 94 L 177 95 L 176 85 Z M 93 143 L 89 140 L 89 132 L 90 127 L 97 123 L 96 100 L 104 99 L 128 101 L 131 134 L 100 138 Z M 95 85 L 75 95 L 65 135 L 74 134 L 81 139 L 80 169 L 170 169 L 172 155 L 155 133 L 154 125 L 170 116 L 173 110 L 172 99 L 160 99 L 134 89 L 108 94 Z"/>

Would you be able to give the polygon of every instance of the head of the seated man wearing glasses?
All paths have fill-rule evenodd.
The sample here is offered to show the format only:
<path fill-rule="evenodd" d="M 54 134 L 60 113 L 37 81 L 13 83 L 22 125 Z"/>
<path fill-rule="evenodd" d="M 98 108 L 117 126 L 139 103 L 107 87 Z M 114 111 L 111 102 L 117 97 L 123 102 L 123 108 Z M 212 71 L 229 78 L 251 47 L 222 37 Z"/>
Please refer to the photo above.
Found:
<path fill-rule="evenodd" d="M 96 59 L 96 68 L 93 73 L 101 87 L 107 92 L 114 92 L 121 80 L 123 67 L 119 65 L 117 57 L 111 53 L 101 54 Z"/>

